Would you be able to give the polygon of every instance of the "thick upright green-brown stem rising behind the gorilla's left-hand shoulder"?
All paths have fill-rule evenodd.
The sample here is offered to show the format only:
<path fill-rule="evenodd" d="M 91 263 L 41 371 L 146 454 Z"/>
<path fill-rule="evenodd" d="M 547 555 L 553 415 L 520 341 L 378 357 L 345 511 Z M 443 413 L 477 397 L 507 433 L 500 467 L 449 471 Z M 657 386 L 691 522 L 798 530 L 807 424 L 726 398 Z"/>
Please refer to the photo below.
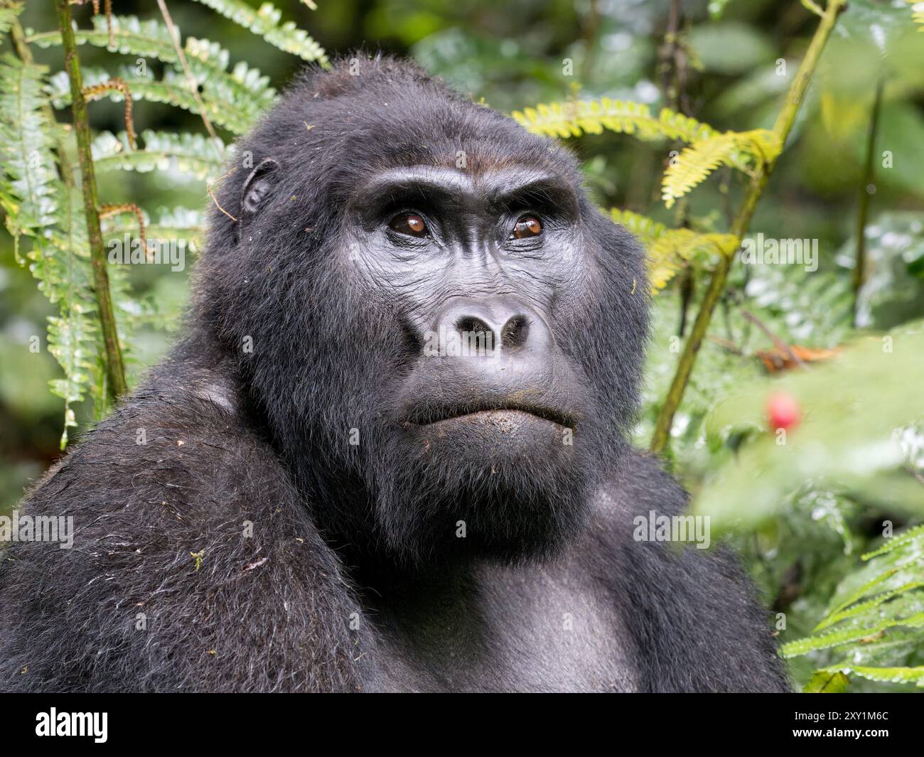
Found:
<path fill-rule="evenodd" d="M 83 210 L 87 218 L 87 238 L 90 242 L 90 261 L 93 269 L 93 294 L 100 315 L 105 347 L 106 382 L 109 396 L 116 399 L 128 390 L 125 381 L 125 365 L 122 362 L 122 348 L 118 343 L 116 315 L 113 312 L 112 295 L 109 291 L 109 274 L 106 271 L 106 255 L 103 249 L 103 231 L 100 228 L 99 202 L 96 194 L 96 177 L 93 175 L 91 153 L 90 121 L 87 117 L 87 103 L 83 99 L 83 79 L 80 76 L 80 60 L 77 55 L 77 41 L 71 26 L 68 0 L 58 0 L 58 23 L 61 26 L 61 42 L 64 45 L 64 65 L 70 79 L 71 113 L 74 132 L 77 136 L 77 153 L 80 166 L 80 189 L 83 192 Z"/>

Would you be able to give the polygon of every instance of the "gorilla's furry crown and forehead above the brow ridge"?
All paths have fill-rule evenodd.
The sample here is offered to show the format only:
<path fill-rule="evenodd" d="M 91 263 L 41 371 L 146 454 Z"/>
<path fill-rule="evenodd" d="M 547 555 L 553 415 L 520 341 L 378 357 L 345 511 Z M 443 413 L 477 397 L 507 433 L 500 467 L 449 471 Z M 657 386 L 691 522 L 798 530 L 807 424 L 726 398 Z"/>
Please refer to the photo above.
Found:
<path fill-rule="evenodd" d="M 322 178 L 331 170 L 359 178 L 383 168 L 431 165 L 477 176 L 533 166 L 579 185 L 574 158 L 553 140 L 438 80 L 408 77 L 404 69 L 389 73 L 321 75 L 282 105 L 267 123 L 272 134 L 261 141 L 288 145 L 322 169 Z M 329 90 L 320 85 L 329 78 L 345 90 L 325 97 Z"/>

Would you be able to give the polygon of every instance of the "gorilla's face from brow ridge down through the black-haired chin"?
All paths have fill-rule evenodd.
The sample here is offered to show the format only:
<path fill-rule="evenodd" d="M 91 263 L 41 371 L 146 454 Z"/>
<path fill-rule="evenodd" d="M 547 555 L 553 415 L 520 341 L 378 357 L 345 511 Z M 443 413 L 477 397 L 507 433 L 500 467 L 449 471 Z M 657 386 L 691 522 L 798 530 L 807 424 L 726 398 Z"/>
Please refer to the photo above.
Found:
<path fill-rule="evenodd" d="M 575 189 L 530 166 L 407 165 L 371 176 L 346 215 L 360 286 L 389 312 L 384 532 L 505 555 L 560 542 L 582 512 L 595 411 L 555 327 L 586 286 Z"/>

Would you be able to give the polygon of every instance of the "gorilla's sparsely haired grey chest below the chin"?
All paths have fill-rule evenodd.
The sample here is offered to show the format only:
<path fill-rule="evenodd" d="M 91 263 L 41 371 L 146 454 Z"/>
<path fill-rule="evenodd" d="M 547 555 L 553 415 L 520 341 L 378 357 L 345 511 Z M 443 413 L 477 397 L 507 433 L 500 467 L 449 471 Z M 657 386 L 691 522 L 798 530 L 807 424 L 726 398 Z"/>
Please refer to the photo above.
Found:
<path fill-rule="evenodd" d="M 481 567 L 373 616 L 370 690 L 627 691 L 634 649 L 615 598 L 574 565 Z"/>

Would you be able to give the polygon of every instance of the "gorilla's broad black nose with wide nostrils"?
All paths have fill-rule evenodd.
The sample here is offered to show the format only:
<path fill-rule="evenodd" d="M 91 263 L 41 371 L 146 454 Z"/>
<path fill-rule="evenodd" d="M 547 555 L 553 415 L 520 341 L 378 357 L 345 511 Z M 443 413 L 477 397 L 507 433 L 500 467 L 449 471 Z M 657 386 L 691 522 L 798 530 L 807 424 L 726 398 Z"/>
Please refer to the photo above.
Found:
<path fill-rule="evenodd" d="M 526 357 L 544 353 L 551 341 L 538 313 L 517 299 L 453 298 L 437 315 L 424 351 L 432 357 Z"/>

